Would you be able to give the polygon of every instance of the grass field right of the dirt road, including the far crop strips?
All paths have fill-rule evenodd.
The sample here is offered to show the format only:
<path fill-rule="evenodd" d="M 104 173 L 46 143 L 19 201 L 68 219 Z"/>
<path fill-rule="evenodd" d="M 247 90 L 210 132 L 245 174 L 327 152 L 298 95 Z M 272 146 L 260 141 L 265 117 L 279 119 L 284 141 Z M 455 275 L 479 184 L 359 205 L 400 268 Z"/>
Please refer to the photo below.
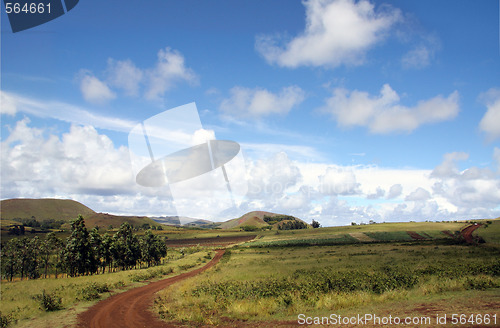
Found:
<path fill-rule="evenodd" d="M 299 313 L 426 315 L 429 311 L 422 309 L 446 304 L 442 313 L 498 312 L 497 224 L 481 228 L 488 243 L 479 246 L 455 244 L 441 233 L 460 230 L 464 223 L 266 232 L 231 249 L 215 270 L 160 292 L 156 311 L 166 320 L 192 325 L 228 320 L 296 323 Z M 406 231 L 432 239 L 414 241 Z M 378 242 L 353 241 L 350 232 L 363 232 Z M 470 304 L 470 299 L 480 302 Z"/>

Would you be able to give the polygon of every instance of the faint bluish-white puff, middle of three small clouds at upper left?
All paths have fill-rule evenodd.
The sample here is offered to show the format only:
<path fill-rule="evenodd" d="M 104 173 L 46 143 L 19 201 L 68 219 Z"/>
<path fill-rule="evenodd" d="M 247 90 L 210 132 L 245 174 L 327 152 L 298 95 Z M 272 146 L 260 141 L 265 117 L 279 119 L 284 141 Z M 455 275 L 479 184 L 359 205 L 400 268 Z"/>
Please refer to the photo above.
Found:
<path fill-rule="evenodd" d="M 108 59 L 107 80 L 110 85 L 123 89 L 127 95 L 136 96 L 144 72 L 137 68 L 131 60 Z"/>

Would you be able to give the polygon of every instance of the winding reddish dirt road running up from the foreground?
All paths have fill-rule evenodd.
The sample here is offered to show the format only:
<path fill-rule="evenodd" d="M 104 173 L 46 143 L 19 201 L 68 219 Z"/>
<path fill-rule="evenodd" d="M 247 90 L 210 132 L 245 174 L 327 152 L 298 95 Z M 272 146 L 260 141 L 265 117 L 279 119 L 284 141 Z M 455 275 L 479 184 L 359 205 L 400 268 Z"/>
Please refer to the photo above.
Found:
<path fill-rule="evenodd" d="M 154 294 L 181 280 L 196 276 L 213 267 L 224 254 L 218 250 L 215 257 L 205 266 L 178 276 L 152 282 L 146 286 L 134 288 L 121 294 L 113 295 L 101 301 L 78 316 L 80 328 L 113 328 L 113 327 L 148 327 L 168 328 L 171 326 L 156 318 L 149 308 L 153 304 Z"/>

